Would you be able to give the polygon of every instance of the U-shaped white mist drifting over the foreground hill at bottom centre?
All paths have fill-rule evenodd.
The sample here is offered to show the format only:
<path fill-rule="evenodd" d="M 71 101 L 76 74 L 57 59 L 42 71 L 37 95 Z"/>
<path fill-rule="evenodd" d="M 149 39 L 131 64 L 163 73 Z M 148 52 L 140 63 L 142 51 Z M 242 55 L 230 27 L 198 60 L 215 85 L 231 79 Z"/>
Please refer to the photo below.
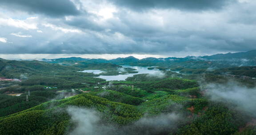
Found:
<path fill-rule="evenodd" d="M 120 127 L 104 124 L 101 114 L 93 109 L 68 107 L 68 114 L 76 127 L 69 135 L 168 135 L 184 118 L 176 113 L 160 114 L 154 117 L 142 117 L 138 121 Z"/>

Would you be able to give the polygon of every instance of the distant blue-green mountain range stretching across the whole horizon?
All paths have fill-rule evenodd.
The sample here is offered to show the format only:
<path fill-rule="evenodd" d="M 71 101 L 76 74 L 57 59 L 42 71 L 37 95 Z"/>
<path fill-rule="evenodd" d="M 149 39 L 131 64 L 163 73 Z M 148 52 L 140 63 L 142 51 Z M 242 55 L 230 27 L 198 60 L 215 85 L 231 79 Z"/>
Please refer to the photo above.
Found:
<path fill-rule="evenodd" d="M 220 69 L 228 67 L 256 66 L 256 50 L 249 52 L 216 54 L 212 56 L 187 56 L 184 58 L 168 57 L 137 59 L 133 56 L 126 58 L 87 59 L 80 57 L 42 59 L 38 60 L 4 60 L 0 58 L 0 76 L 21 78 L 20 74 L 39 75 L 44 71 L 79 71 L 84 68 L 100 69 L 118 67 L 118 65 L 131 66 L 157 66 L 157 67 L 184 67 Z M 18 76 L 17 76 L 18 75 Z"/>

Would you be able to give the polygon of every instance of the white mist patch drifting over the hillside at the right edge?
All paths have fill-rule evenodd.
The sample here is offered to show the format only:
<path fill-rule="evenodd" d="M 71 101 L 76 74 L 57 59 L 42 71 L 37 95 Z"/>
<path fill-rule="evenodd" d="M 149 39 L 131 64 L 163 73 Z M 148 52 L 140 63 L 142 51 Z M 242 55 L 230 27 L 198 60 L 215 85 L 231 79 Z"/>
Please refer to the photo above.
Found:
<path fill-rule="evenodd" d="M 210 100 L 228 103 L 237 110 L 246 111 L 256 117 L 256 87 L 249 88 L 236 81 L 227 83 L 210 83 L 205 86 Z M 232 106 L 232 107 L 233 107 Z"/>

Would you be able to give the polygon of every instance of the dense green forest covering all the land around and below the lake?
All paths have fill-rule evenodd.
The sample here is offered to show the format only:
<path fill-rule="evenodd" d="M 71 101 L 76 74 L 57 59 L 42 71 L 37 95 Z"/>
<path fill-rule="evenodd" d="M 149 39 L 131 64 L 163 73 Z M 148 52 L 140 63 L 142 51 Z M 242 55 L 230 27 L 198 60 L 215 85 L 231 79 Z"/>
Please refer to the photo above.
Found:
<path fill-rule="evenodd" d="M 153 67 L 164 76 L 106 81 L 79 71 L 129 74 L 136 70 L 116 64 L 138 60 L 73 59 L 0 60 L 2 77 L 20 79 L 0 81 L 0 135 L 256 135 L 256 67 Z"/>

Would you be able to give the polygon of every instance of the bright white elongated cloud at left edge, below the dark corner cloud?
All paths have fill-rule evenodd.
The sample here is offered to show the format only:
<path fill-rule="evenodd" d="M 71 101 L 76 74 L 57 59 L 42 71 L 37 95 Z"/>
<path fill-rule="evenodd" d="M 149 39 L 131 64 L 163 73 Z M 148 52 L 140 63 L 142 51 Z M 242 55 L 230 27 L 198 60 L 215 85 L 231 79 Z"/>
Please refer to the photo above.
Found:
<path fill-rule="evenodd" d="M 37 24 L 35 23 L 28 23 L 26 22 L 26 20 L 16 20 L 12 18 L 8 18 L 8 19 L 0 18 L 0 25 L 23 28 L 25 30 L 37 29 Z"/>

